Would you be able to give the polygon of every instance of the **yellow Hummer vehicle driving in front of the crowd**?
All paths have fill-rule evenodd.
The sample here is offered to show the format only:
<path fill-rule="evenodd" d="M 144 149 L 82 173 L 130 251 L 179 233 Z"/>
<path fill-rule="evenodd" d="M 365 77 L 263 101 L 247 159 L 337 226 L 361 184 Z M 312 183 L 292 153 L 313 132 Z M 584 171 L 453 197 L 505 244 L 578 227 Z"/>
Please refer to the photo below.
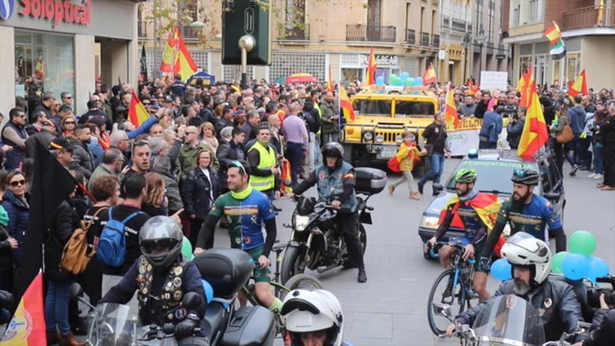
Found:
<path fill-rule="evenodd" d="M 363 89 L 351 97 L 354 120 L 346 119 L 341 142 L 344 159 L 358 162 L 388 161 L 402 143 L 402 134 L 417 136 L 433 122 L 437 97 L 423 87 Z"/>

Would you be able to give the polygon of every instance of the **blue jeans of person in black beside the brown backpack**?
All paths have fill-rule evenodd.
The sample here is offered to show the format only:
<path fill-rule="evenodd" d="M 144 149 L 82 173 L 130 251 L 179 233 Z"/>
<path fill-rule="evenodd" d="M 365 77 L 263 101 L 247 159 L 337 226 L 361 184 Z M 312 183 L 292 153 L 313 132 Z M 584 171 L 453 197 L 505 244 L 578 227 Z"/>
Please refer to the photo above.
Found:
<path fill-rule="evenodd" d="M 48 331 L 59 329 L 60 334 L 71 333 L 68 324 L 68 301 L 71 300 L 71 281 L 48 279 L 47 296 L 45 297 L 45 328 Z"/>

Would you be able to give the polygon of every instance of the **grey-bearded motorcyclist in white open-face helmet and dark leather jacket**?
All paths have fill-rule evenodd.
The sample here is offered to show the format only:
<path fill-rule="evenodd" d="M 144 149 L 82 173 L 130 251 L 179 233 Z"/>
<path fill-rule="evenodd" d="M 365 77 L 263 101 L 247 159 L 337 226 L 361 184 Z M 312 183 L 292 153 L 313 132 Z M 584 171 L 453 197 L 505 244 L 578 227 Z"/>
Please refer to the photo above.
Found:
<path fill-rule="evenodd" d="M 547 341 L 559 340 L 564 331 L 574 333 L 577 322 L 583 322 L 581 305 L 574 289 L 564 281 L 549 278 L 551 250 L 544 241 L 528 233 L 518 232 L 502 246 L 502 257 L 512 265 L 513 280 L 503 282 L 492 298 L 515 294 L 536 308 Z M 482 303 L 456 317 L 458 324 L 472 324 L 489 305 Z M 456 324 L 447 328 L 452 336 Z"/>

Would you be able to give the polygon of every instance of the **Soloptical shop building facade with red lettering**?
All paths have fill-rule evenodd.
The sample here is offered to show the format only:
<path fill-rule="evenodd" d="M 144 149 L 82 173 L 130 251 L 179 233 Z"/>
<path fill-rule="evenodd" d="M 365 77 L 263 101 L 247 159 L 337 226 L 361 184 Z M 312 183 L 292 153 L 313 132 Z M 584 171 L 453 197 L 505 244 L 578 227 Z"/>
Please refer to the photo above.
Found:
<path fill-rule="evenodd" d="M 28 100 L 51 91 L 58 100 L 61 92 L 73 94 L 81 114 L 96 80 L 135 85 L 136 1 L 6 3 L 0 13 L 1 112 L 15 106 L 15 96 Z"/>

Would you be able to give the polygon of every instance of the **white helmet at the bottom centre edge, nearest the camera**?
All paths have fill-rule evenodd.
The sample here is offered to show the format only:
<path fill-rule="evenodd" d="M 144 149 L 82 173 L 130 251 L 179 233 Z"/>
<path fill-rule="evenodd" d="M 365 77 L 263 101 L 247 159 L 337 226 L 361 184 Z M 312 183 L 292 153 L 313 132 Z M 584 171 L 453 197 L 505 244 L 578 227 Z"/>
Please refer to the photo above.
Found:
<path fill-rule="evenodd" d="M 325 346 L 340 346 L 344 334 L 342 305 L 330 291 L 294 289 L 282 305 L 284 328 L 290 332 L 291 346 L 300 346 L 301 334 L 327 331 Z"/>

